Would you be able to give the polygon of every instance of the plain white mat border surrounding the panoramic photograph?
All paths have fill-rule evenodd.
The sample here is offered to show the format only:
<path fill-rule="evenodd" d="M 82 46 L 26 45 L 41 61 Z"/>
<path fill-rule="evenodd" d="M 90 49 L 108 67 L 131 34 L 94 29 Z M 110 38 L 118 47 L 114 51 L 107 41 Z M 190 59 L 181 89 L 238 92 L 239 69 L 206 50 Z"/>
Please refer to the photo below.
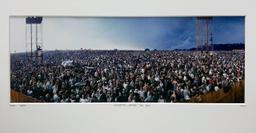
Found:
<path fill-rule="evenodd" d="M 253 0 L 9 0 L 0 3 L 0 133 L 256 132 Z M 9 15 L 246 16 L 246 105 L 9 104 Z M 228 39 L 228 38 L 227 38 Z"/>

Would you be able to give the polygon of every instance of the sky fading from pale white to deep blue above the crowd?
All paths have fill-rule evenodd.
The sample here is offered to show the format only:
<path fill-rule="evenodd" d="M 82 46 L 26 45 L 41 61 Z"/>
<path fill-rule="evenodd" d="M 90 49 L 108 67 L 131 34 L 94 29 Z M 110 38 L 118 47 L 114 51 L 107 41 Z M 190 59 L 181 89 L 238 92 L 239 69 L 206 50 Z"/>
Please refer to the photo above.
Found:
<path fill-rule="evenodd" d="M 193 48 L 195 20 L 195 17 L 43 17 L 43 49 Z M 213 43 L 244 43 L 244 24 L 242 16 L 213 17 Z M 26 51 L 25 27 L 25 17 L 10 17 L 11 52 Z"/>

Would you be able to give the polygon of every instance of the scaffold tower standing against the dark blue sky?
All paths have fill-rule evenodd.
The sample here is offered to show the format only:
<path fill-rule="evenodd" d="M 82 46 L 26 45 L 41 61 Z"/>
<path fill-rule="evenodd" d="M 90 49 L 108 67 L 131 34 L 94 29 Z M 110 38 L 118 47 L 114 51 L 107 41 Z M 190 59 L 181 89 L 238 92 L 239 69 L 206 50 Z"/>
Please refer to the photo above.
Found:
<path fill-rule="evenodd" d="M 196 18 L 196 48 L 200 51 L 213 50 L 213 17 Z"/>

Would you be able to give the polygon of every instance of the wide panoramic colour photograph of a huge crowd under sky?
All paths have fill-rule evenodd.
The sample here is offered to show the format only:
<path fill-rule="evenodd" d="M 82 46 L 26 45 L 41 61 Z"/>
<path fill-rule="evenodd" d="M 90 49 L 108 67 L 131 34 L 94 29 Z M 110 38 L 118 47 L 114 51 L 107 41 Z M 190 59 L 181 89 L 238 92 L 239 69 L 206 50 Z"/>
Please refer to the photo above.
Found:
<path fill-rule="evenodd" d="M 245 17 L 11 16 L 10 103 L 244 103 Z"/>

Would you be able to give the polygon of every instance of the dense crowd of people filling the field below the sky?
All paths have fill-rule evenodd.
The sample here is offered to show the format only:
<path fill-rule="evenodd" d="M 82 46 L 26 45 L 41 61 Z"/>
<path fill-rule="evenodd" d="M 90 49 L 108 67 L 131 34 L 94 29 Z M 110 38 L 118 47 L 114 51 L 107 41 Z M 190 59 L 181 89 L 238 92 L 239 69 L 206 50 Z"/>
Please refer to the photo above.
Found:
<path fill-rule="evenodd" d="M 11 88 L 45 102 L 188 102 L 244 80 L 244 51 L 11 54 Z M 73 61 L 63 66 L 63 61 Z"/>

